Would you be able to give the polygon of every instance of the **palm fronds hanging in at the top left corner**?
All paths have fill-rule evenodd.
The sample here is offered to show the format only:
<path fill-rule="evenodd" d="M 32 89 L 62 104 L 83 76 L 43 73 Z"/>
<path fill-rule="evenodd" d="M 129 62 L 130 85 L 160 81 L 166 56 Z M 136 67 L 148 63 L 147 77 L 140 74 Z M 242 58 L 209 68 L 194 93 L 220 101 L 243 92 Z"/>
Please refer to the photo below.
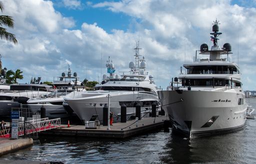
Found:
<path fill-rule="evenodd" d="M 0 10 L 3 10 L 3 4 L 0 1 Z M 4 40 L 8 40 L 16 44 L 18 41 L 14 34 L 7 32 L 6 28 L 2 27 L 3 25 L 13 28 L 14 21 L 11 16 L 0 15 L 0 38 Z"/>

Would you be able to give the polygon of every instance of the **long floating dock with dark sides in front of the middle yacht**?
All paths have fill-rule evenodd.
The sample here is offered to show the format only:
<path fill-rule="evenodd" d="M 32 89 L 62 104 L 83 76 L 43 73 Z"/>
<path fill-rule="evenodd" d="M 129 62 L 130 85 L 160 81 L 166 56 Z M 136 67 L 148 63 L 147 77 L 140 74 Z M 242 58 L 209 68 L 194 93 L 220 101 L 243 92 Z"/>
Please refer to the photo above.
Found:
<path fill-rule="evenodd" d="M 96 129 L 88 129 L 84 125 L 70 125 L 70 127 L 61 127 L 40 132 L 40 135 L 126 138 L 160 129 L 163 127 L 165 120 L 168 120 L 166 116 L 144 117 L 138 120 L 137 123 L 135 120 L 113 123 L 110 129 L 107 129 L 108 126 L 102 125 Z"/>

